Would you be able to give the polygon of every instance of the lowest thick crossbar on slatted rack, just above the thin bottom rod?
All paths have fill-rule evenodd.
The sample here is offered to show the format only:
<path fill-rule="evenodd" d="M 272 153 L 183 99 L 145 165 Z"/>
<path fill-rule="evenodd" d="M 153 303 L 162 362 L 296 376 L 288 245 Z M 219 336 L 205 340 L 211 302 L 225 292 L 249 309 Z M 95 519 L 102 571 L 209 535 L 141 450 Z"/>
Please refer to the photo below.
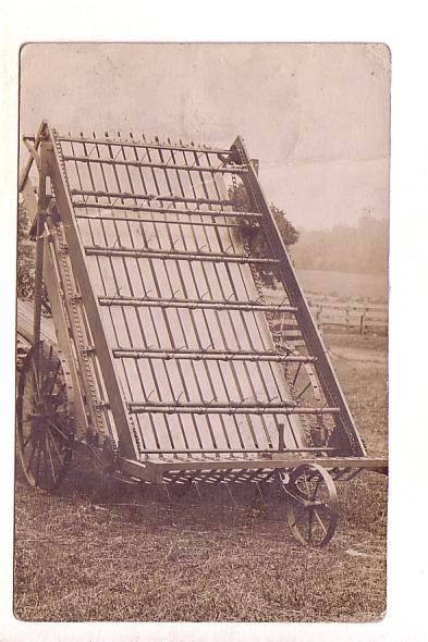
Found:
<path fill-rule="evenodd" d="M 276 404 L 169 404 L 163 402 L 144 404 L 140 402 L 130 402 L 127 404 L 130 412 L 163 412 L 166 415 L 192 413 L 196 415 L 335 415 L 340 412 L 339 408 L 302 408 L 299 406 L 290 407 Z"/>

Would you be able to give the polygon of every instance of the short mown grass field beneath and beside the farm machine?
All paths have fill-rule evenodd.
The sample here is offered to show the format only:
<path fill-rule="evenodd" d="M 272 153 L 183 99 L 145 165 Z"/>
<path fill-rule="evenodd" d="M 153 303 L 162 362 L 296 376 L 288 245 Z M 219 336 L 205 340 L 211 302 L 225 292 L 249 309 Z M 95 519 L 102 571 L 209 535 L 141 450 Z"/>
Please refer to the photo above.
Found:
<path fill-rule="evenodd" d="M 387 339 L 326 335 L 370 455 L 387 452 Z M 283 503 L 101 474 L 76 457 L 54 495 L 15 501 L 14 610 L 25 620 L 372 621 L 386 610 L 387 479 L 339 484 L 327 548 L 292 538 Z"/>

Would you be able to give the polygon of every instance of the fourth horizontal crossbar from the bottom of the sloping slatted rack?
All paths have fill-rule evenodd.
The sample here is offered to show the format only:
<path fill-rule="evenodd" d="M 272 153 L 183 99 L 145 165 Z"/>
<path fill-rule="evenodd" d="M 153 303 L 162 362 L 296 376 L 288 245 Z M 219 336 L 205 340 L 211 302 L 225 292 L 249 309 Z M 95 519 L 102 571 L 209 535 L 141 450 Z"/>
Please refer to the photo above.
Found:
<path fill-rule="evenodd" d="M 244 312 L 267 312 L 272 306 L 265 304 L 253 304 L 250 301 L 228 301 L 228 300 L 204 300 L 204 299 L 176 299 L 176 298 L 155 298 L 155 297 L 133 297 L 133 296 L 100 296 L 100 306 L 135 306 L 135 307 L 159 307 L 159 308 L 188 308 L 188 309 L 208 309 L 208 310 L 243 310 Z M 276 308 L 277 309 L 277 308 Z M 282 306 L 282 312 L 295 312 L 293 306 Z"/>

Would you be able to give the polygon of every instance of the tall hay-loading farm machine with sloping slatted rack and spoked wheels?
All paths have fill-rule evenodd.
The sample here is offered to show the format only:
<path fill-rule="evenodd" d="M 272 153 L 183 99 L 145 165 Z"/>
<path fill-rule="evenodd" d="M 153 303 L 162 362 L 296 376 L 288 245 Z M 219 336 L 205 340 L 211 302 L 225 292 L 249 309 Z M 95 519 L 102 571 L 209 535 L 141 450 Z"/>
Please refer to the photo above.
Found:
<path fill-rule="evenodd" d="M 28 483 L 57 489 L 85 444 L 129 481 L 278 484 L 294 536 L 326 545 L 334 482 L 388 464 L 367 456 L 243 139 L 222 149 L 44 122 L 24 143 Z"/>

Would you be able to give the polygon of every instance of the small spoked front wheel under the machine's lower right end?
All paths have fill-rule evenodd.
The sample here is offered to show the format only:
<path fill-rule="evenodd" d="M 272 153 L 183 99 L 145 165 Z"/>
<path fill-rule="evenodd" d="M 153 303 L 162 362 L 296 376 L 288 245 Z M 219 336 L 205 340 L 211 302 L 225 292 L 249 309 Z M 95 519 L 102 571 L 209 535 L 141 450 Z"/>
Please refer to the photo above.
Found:
<path fill-rule="evenodd" d="M 338 524 L 339 503 L 329 472 L 317 464 L 294 469 L 285 486 L 286 517 L 295 539 L 308 546 L 328 544 Z"/>

